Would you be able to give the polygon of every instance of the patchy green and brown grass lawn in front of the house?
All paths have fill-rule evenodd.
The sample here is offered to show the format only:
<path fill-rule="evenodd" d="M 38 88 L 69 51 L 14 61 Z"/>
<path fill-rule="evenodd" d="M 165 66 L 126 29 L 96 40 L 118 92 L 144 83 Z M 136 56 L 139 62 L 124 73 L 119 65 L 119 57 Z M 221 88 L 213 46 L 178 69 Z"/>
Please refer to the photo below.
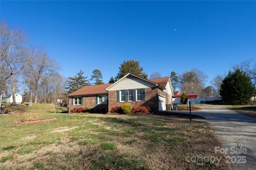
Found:
<path fill-rule="evenodd" d="M 6 105 L 5 105 L 6 106 Z M 9 105 L 7 105 L 9 107 Z M 187 163 L 193 155 L 218 156 L 209 124 L 167 116 L 54 113 L 51 104 L 10 106 L 37 118 L 17 123 L 0 116 L 0 169 L 229 169 L 215 163 Z"/>

